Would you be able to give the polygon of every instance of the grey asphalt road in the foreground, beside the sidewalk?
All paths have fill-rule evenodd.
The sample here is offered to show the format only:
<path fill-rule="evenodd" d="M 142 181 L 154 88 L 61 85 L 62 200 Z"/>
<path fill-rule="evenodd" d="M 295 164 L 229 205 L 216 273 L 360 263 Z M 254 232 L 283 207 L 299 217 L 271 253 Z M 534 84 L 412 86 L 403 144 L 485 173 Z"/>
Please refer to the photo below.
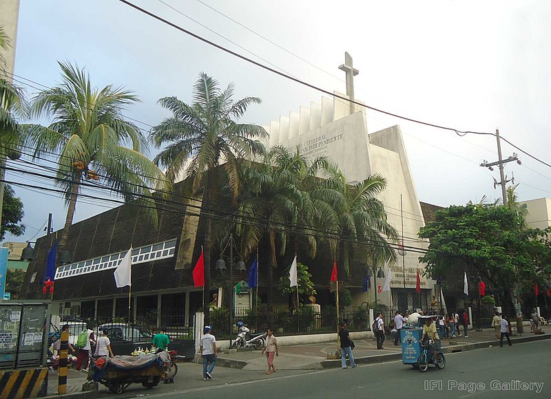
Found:
<path fill-rule="evenodd" d="M 220 377 L 201 380 L 190 389 L 173 386 L 170 391 L 141 391 L 133 396 L 141 393 L 140 396 L 148 398 L 551 398 L 550 354 L 551 341 L 545 340 L 447 354 L 445 369 L 430 366 L 426 373 L 402 362 L 391 362 L 302 374 L 278 372 L 260 377 L 256 373 L 250 374 L 254 380 L 247 381 L 244 373 L 251 371 L 232 370 L 238 373 L 240 381 L 230 382 L 235 376 L 227 380 Z"/>

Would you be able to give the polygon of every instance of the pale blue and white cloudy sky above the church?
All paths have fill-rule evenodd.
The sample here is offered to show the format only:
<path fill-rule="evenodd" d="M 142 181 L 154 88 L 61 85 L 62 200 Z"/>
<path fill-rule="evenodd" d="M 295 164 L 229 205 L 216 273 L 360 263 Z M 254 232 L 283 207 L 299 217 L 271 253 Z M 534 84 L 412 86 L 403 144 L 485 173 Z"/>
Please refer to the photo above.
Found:
<path fill-rule="evenodd" d="M 338 66 L 347 51 L 360 70 L 355 77 L 357 100 L 461 131 L 494 133 L 499 128 L 501 136 L 551 163 L 548 0 L 132 3 L 329 91 L 346 91 Z M 59 84 L 57 61 L 86 67 L 97 87 L 113 84 L 135 91 L 141 103 L 129 107 L 125 116 L 143 122 L 136 123 L 146 131 L 169 116 L 156 104 L 159 98 L 177 96 L 191 102 L 200 72 L 214 76 L 222 86 L 234 83 L 235 98 L 262 98 L 261 105 L 249 108 L 245 122 L 269 124 L 300 106 L 308 107 L 311 101 L 319 103 L 322 97 L 318 91 L 225 54 L 117 0 L 21 0 L 16 83 L 30 79 L 48 87 Z M 31 97 L 37 92 L 26 88 Z M 484 160 L 497 160 L 494 137 L 460 137 L 453 131 L 375 111 L 367 111 L 367 122 L 369 133 L 402 127 L 422 202 L 449 206 L 501 197 L 499 186 L 493 186 L 493 177 L 499 181 L 497 168 L 488 171 L 479 166 Z M 519 153 L 504 142 L 502 151 L 503 158 Z M 149 155 L 155 153 L 151 149 Z M 519 200 L 551 197 L 550 167 L 521 153 L 519 159 L 521 165 L 506 165 L 508 178 L 514 173 L 514 182 L 519 183 L 515 191 Z M 8 166 L 20 168 L 21 164 Z M 7 176 L 14 182 L 52 187 L 50 181 L 21 173 L 8 172 Z M 8 235 L 6 241 L 41 237 L 48 213 L 53 214 L 54 229 L 63 227 L 63 198 L 35 188 L 14 186 L 14 190 L 23 200 L 23 223 L 28 228 L 22 237 Z M 86 202 L 77 204 L 74 222 L 114 206 L 99 200 Z"/>

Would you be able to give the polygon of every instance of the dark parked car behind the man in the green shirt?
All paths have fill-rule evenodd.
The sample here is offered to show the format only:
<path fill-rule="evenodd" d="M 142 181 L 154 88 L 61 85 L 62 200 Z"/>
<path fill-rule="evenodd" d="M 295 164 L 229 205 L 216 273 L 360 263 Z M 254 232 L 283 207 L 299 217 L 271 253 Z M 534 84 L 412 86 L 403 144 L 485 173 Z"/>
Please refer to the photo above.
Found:
<path fill-rule="evenodd" d="M 151 347 L 153 334 L 139 325 L 128 323 L 106 323 L 98 327 L 98 336 L 107 329 L 111 349 L 115 355 L 129 355 L 137 347 Z"/>

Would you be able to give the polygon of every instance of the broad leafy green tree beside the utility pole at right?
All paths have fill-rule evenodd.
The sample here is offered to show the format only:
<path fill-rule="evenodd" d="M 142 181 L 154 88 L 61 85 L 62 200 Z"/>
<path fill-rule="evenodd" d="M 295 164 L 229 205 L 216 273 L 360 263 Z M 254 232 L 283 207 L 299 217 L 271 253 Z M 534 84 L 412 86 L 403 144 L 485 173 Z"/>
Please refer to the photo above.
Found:
<path fill-rule="evenodd" d="M 551 250 L 547 230 L 521 229 L 521 215 L 507 206 L 467 204 L 435 213 L 435 220 L 419 229 L 430 239 L 419 261 L 427 263 L 428 276 L 478 274 L 490 281 L 512 310 L 510 292 L 518 281 L 532 286 L 534 279 L 550 274 Z"/>

